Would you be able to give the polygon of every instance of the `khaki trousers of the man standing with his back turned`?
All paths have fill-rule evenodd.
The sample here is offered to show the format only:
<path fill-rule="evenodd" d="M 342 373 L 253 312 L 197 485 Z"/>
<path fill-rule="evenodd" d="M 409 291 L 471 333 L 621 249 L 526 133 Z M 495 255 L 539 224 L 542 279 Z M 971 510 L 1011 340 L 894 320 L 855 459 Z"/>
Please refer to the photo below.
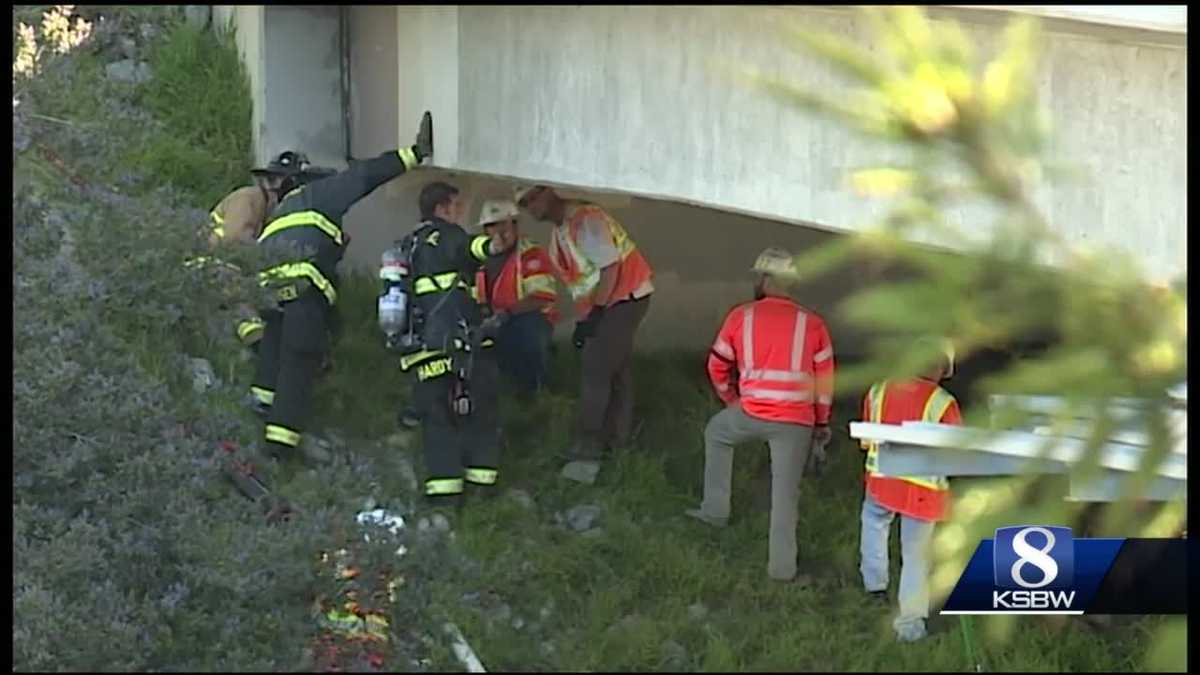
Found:
<path fill-rule="evenodd" d="M 800 478 L 812 444 L 812 428 L 767 422 L 746 414 L 740 405 L 726 407 L 704 428 L 704 515 L 730 516 L 733 447 L 748 441 L 770 446 L 770 537 L 767 574 L 796 577 L 796 522 L 799 519 Z"/>

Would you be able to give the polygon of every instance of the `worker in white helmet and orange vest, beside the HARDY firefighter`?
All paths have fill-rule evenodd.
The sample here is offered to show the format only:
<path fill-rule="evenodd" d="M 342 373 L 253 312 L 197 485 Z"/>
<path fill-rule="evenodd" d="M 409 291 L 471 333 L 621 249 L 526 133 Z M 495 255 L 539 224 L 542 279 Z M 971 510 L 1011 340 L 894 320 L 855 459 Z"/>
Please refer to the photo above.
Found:
<path fill-rule="evenodd" d="M 487 315 L 485 330 L 496 335 L 500 371 L 516 380 L 518 392 L 533 394 L 546 383 L 558 291 L 546 250 L 521 237 L 518 215 L 509 199 L 484 202 L 479 226 L 503 252 L 475 273 L 473 293 Z"/>

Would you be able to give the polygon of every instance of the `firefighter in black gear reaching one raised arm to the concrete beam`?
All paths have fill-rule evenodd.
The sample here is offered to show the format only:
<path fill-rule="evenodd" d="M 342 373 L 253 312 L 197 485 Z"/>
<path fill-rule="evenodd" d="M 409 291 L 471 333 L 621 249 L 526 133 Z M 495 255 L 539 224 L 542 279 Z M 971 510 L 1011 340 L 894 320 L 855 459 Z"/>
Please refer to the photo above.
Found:
<path fill-rule="evenodd" d="M 259 235 L 269 261 L 259 280 L 274 291 L 277 305 L 263 312 L 266 329 L 251 393 L 265 412 L 266 449 L 276 458 L 292 458 L 296 449 L 316 454 L 310 444 L 301 447 L 301 431 L 313 381 L 330 346 L 336 269 L 346 252 L 342 216 L 376 187 L 432 154 L 432 119 L 425 113 L 409 148 L 353 162 L 326 178 L 306 181 L 311 174 L 299 174 Z"/>

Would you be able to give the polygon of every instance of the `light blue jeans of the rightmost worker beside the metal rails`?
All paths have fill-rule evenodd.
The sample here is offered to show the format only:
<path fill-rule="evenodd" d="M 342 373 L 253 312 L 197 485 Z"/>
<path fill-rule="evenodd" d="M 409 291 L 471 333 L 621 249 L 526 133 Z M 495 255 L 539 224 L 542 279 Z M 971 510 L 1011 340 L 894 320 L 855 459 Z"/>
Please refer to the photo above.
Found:
<path fill-rule="evenodd" d="M 875 501 L 870 492 L 864 495 L 859 571 L 868 591 L 886 591 L 888 587 L 888 536 L 896 515 Z M 892 627 L 901 639 L 914 640 L 925 635 L 934 525 L 928 520 L 900 515 L 900 615 Z"/>

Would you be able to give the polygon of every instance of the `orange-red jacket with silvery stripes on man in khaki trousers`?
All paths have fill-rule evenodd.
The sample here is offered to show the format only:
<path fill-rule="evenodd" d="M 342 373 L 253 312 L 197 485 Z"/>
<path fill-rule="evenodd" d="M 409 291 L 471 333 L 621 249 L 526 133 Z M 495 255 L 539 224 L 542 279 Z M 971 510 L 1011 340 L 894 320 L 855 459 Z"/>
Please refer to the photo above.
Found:
<path fill-rule="evenodd" d="M 746 414 L 769 422 L 829 424 L 833 377 L 824 321 L 786 298 L 733 307 L 708 354 L 716 395 L 740 399 Z"/>

